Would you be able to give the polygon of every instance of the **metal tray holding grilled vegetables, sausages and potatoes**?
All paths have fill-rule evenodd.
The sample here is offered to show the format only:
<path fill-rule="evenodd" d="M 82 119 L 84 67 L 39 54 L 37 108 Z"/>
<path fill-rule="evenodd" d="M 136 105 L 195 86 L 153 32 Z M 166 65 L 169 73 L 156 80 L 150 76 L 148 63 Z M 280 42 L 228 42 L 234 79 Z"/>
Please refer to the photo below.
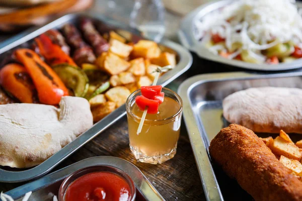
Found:
<path fill-rule="evenodd" d="M 77 23 L 77 21 L 81 17 L 89 17 L 94 19 L 96 22 L 104 27 L 105 31 L 112 30 L 112 29 L 122 29 L 127 30 L 136 38 L 141 38 L 139 32 L 133 30 L 126 26 L 123 23 L 119 23 L 117 21 L 111 20 L 106 18 L 102 15 L 98 15 L 96 13 L 79 13 L 79 14 L 70 14 L 63 16 L 43 27 L 29 29 L 11 39 L 0 44 L 0 60 L 4 59 L 6 56 L 6 52 L 12 51 L 15 48 L 21 46 L 28 46 L 28 42 L 33 40 L 35 37 L 39 36 L 40 34 L 46 32 L 50 29 L 57 29 L 61 28 L 66 23 Z M 107 30 L 106 30 L 107 29 Z M 132 37 L 132 38 L 135 38 Z M 174 42 L 169 40 L 163 40 L 161 42 L 161 48 L 165 48 L 167 51 L 175 52 L 177 54 L 178 63 L 175 68 L 164 75 L 162 75 L 158 81 L 159 84 L 165 86 L 175 78 L 183 74 L 186 70 L 188 70 L 192 64 L 192 55 L 181 45 L 178 45 Z M 109 114 L 107 117 L 96 123 L 91 129 L 83 133 L 77 139 L 73 140 L 71 143 L 66 145 L 56 154 L 48 158 L 46 161 L 41 163 L 40 165 L 20 171 L 22 169 L 10 169 L 7 170 L 3 167 L 0 169 L 0 182 L 21 182 L 26 180 L 31 180 L 37 177 L 40 177 L 47 172 L 49 172 L 52 168 L 54 168 L 57 164 L 62 162 L 65 158 L 71 155 L 73 152 L 77 151 L 81 148 L 84 144 L 88 141 L 96 137 L 98 134 L 103 132 L 109 126 L 114 124 L 117 120 L 122 118 L 126 114 L 125 105 L 119 107 L 114 112 Z M 14 171 L 15 170 L 15 171 Z"/>

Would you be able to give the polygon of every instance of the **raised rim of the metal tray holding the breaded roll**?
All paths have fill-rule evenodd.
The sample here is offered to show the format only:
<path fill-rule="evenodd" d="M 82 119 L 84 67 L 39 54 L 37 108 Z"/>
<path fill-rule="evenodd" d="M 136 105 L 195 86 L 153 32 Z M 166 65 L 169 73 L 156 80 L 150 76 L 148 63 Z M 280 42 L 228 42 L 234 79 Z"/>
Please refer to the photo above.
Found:
<path fill-rule="evenodd" d="M 261 79 L 261 78 L 278 78 L 301 76 L 302 72 L 276 73 L 276 74 L 259 74 L 246 72 L 229 72 L 229 73 L 210 73 L 195 75 L 186 79 L 178 88 L 178 93 L 183 99 L 183 116 L 188 131 L 191 147 L 194 153 L 198 172 L 200 174 L 204 194 L 207 200 L 223 200 L 215 173 L 213 171 L 206 142 L 204 139 L 204 127 L 197 120 L 194 109 L 189 99 L 190 90 L 197 84 L 210 81 L 226 80 L 243 80 L 243 79 Z M 200 143 L 201 142 L 201 143 Z"/>

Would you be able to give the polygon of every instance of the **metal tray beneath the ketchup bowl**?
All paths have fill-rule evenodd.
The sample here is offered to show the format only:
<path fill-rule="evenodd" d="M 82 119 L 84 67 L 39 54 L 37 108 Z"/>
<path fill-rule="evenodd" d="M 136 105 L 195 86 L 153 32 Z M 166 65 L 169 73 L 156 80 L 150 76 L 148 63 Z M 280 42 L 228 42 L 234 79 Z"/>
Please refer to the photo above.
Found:
<path fill-rule="evenodd" d="M 95 165 L 109 165 L 126 172 L 136 186 L 136 200 L 165 200 L 135 165 L 124 159 L 111 156 L 96 156 L 79 161 L 10 190 L 6 194 L 11 195 L 16 201 L 21 201 L 25 193 L 32 191 L 29 200 L 52 201 L 53 195 L 58 195 L 59 187 L 64 178 L 79 169 Z"/>

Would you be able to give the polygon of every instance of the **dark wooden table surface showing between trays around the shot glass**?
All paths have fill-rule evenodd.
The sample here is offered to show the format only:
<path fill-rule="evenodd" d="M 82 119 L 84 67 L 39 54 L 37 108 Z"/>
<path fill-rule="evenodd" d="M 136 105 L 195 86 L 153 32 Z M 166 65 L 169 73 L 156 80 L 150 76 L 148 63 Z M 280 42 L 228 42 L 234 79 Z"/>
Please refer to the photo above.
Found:
<path fill-rule="evenodd" d="M 98 7 L 95 9 L 100 11 Z M 176 31 L 180 19 L 181 16 L 170 12 L 166 13 L 166 36 L 174 41 L 177 41 Z M 217 63 L 202 60 L 195 54 L 193 54 L 193 57 L 192 67 L 181 77 L 169 84 L 169 88 L 177 90 L 183 80 L 196 74 L 230 71 L 230 69 Z M 234 68 L 231 70 L 234 70 Z M 166 200 L 205 200 L 184 122 L 182 122 L 177 154 L 173 159 L 161 165 L 145 164 L 135 160 L 129 149 L 127 120 L 124 117 L 59 164 L 54 170 L 93 156 L 116 156 L 134 163 Z M 0 191 L 7 191 L 21 184 L 24 183 L 3 183 L 0 184 Z"/>

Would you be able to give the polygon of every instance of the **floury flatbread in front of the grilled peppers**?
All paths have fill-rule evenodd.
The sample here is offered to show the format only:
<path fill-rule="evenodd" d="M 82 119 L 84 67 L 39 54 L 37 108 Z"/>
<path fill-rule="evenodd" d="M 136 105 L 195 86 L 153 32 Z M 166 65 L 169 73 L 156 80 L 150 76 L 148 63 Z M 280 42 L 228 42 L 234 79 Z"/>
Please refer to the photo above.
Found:
<path fill-rule="evenodd" d="M 38 165 L 92 127 L 85 98 L 63 96 L 59 106 L 0 105 L 0 165 Z"/>

